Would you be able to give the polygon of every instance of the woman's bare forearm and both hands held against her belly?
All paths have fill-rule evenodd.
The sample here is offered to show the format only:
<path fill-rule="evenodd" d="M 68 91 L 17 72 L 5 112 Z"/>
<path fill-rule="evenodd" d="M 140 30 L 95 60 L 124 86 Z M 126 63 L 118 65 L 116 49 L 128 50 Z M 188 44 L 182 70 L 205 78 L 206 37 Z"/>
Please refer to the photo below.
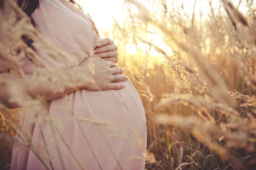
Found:
<path fill-rule="evenodd" d="M 50 86 L 53 82 L 50 80 L 44 81 L 43 84 L 33 84 L 29 86 L 29 89 L 26 84 L 18 75 L 11 74 L 6 72 L 7 70 L 0 70 L 0 80 L 6 80 L 5 84 L 0 84 L 0 102 L 5 104 L 9 108 L 18 108 L 23 107 L 18 105 L 15 102 L 10 102 L 11 93 L 8 89 L 8 84 L 18 84 L 20 90 L 24 91 L 27 94 L 41 95 L 44 94 L 44 97 L 47 101 L 51 101 L 56 98 L 63 97 L 64 94 L 69 94 L 75 92 L 78 89 L 87 89 L 90 91 L 99 91 L 99 90 L 108 90 L 108 89 L 122 89 L 125 87 L 122 83 L 114 83 L 116 77 L 114 74 L 119 75 L 118 82 L 126 81 L 127 76 L 122 75 L 124 72 L 123 69 L 116 66 L 118 53 L 116 52 L 117 47 L 114 45 L 112 40 L 103 39 L 99 42 L 100 45 L 96 48 L 97 55 L 90 57 L 84 60 L 79 66 L 64 69 L 58 72 L 59 80 L 64 86 L 63 92 L 53 92 Z M 94 66 L 93 70 L 90 66 Z M 81 75 L 84 74 L 87 77 L 90 77 L 90 80 L 87 78 L 81 79 Z M 63 76 L 62 76 L 63 75 Z M 74 77 L 77 75 L 77 77 Z M 30 80 L 30 76 L 27 75 L 27 79 Z M 47 75 L 41 75 L 47 76 Z M 70 82 L 67 82 L 70 80 Z M 93 80 L 93 83 L 92 81 Z M 70 86 L 74 84 L 74 86 Z"/>

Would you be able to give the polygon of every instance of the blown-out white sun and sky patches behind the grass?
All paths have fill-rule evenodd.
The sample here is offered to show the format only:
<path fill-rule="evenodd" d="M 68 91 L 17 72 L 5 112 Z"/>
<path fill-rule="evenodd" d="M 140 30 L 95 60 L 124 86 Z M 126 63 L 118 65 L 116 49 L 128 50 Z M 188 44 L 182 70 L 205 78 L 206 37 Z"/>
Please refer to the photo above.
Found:
<path fill-rule="evenodd" d="M 147 9 L 150 11 L 156 10 L 154 6 L 152 6 L 152 0 L 138 0 L 141 2 Z M 91 14 L 94 22 L 96 23 L 99 32 L 105 32 L 108 30 L 112 32 L 112 25 L 113 25 L 113 17 L 118 23 L 122 23 L 125 19 L 124 13 L 124 1 L 123 0 L 79 0 L 80 4 L 83 7 L 85 13 Z M 239 0 L 232 0 L 233 4 L 237 6 L 239 4 Z M 195 0 L 168 0 L 166 1 L 167 9 L 168 7 L 175 8 L 176 6 L 179 7 L 183 4 L 183 12 L 192 16 L 193 14 L 193 7 L 195 4 Z M 212 0 L 212 7 L 214 9 L 218 9 L 220 5 L 218 0 Z M 239 6 L 239 10 L 241 12 L 246 12 L 247 7 L 244 3 L 241 3 Z M 199 19 L 200 11 L 203 17 L 207 17 L 208 13 L 210 12 L 210 6 L 207 0 L 197 0 L 195 5 L 195 18 Z M 136 13 L 137 11 L 134 11 Z M 148 33 L 146 36 L 146 40 L 153 44 L 156 44 L 158 47 L 163 49 L 164 51 L 171 52 L 171 50 L 166 46 L 165 42 L 163 41 L 163 35 L 161 35 L 160 31 L 155 28 L 148 29 L 150 32 L 154 32 L 156 34 Z M 149 46 L 145 44 L 139 44 L 140 48 L 143 50 L 148 50 Z M 137 47 L 132 44 L 128 43 L 125 45 L 125 53 L 126 54 L 135 54 L 137 52 Z M 151 56 L 159 56 L 160 54 L 151 48 L 149 51 Z"/>

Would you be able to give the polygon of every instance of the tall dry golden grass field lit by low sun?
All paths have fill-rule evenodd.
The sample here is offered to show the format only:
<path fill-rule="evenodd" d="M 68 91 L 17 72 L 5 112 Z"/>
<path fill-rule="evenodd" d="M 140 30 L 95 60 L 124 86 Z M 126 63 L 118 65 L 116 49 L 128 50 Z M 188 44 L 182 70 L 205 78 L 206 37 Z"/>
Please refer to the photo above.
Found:
<path fill-rule="evenodd" d="M 104 33 L 119 46 L 118 64 L 145 107 L 148 170 L 255 169 L 253 0 L 241 1 L 243 12 L 227 0 L 205 1 L 207 14 L 194 6 L 187 14 L 178 0 L 149 1 L 156 6 L 151 11 L 126 0 L 127 20 Z M 6 112 L 0 113 L 0 169 L 9 168 L 10 124 L 17 124 L 15 110 Z"/>

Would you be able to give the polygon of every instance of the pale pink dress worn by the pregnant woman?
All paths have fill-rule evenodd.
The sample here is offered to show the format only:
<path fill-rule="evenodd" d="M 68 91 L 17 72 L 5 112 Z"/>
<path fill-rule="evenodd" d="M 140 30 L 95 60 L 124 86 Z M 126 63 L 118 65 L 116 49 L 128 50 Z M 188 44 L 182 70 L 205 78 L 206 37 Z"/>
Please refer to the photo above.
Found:
<path fill-rule="evenodd" d="M 44 37 L 79 63 L 89 57 L 98 43 L 90 21 L 67 0 L 41 0 L 32 17 Z M 42 49 L 37 52 L 47 66 L 71 67 L 53 61 Z M 24 71 L 33 72 L 30 62 Z M 130 81 L 125 84 L 121 90 L 81 89 L 67 98 L 50 101 L 49 115 L 57 127 L 54 133 L 44 111 L 38 112 L 35 122 L 29 113 L 24 115 L 17 133 L 32 136 L 32 145 L 45 165 L 16 140 L 11 170 L 144 170 L 145 112 L 134 86 Z M 69 119 L 75 117 L 80 118 L 79 123 Z"/>

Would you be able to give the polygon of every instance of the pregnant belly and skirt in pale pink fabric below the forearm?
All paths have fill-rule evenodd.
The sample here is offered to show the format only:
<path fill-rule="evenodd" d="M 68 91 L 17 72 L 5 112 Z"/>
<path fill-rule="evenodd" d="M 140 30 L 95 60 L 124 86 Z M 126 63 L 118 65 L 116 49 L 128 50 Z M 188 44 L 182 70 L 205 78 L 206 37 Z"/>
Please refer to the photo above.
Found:
<path fill-rule="evenodd" d="M 50 156 L 54 169 L 62 169 L 60 159 L 68 170 L 144 169 L 145 112 L 134 86 L 130 81 L 125 84 L 121 90 L 81 89 L 51 101 L 54 126 L 45 121 L 46 112 L 38 114 L 32 141 L 44 156 Z M 33 154 L 28 162 L 28 169 L 41 164 Z"/>

